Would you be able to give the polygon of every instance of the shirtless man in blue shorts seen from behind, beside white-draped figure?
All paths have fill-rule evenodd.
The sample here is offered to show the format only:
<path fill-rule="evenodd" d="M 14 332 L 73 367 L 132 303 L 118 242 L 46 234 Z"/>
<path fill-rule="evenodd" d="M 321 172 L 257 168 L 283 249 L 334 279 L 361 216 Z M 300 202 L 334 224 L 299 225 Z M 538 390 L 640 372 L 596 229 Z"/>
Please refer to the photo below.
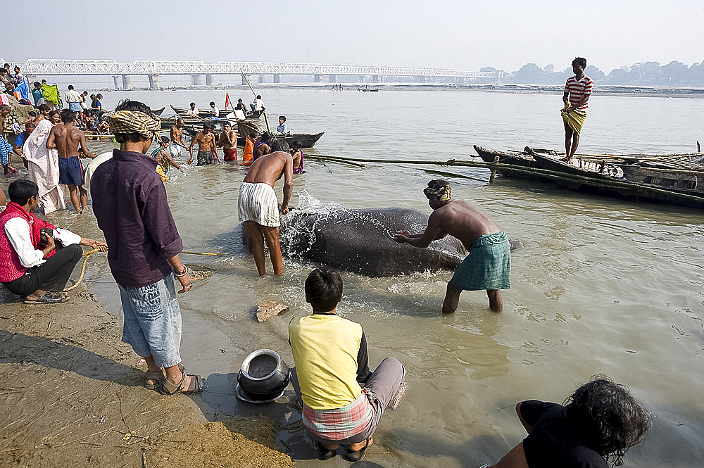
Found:
<path fill-rule="evenodd" d="M 88 194 L 83 188 L 83 164 L 81 156 L 85 158 L 95 158 L 95 155 L 88 151 L 86 137 L 83 132 L 74 127 L 76 113 L 70 109 L 61 111 L 61 122 L 63 125 L 55 125 L 49 138 L 46 140 L 46 148 L 58 151 L 58 183 L 68 186 L 68 194 L 73 203 L 73 208 L 78 213 L 88 205 Z M 80 149 L 79 149 L 80 147 Z"/>

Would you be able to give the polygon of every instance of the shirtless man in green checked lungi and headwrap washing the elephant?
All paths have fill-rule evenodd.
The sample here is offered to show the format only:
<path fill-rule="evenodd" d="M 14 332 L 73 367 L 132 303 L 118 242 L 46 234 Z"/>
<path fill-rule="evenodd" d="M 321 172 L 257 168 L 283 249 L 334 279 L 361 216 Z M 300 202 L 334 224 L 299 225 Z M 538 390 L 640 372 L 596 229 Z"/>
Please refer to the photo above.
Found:
<path fill-rule="evenodd" d="M 457 267 L 447 284 L 442 312 L 451 314 L 457 309 L 462 291 L 486 289 L 489 308 L 495 312 L 503 309 L 501 291 L 510 289 L 510 243 L 506 234 L 494 221 L 472 208 L 464 201 L 451 199 L 451 188 L 445 180 L 431 180 L 423 190 L 433 213 L 428 227 L 422 234 L 398 231 L 393 239 L 425 248 L 432 241 L 446 235 L 456 237 L 470 254 Z"/>

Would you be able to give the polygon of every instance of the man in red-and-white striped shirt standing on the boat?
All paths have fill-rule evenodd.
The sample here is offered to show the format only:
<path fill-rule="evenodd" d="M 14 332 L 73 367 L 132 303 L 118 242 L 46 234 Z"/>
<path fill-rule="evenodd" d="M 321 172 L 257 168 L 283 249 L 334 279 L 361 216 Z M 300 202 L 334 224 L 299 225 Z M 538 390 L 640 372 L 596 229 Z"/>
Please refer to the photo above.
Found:
<path fill-rule="evenodd" d="M 574 58 L 572 61 L 574 76 L 567 78 L 565 93 L 562 94 L 565 107 L 560 112 L 565 124 L 565 158 L 561 161 L 567 164 L 572 163 L 572 156 L 577 152 L 579 134 L 582 133 L 586 110 L 589 108 L 587 101 L 594 86 L 591 78 L 584 75 L 584 68 L 586 68 L 586 58 Z"/>

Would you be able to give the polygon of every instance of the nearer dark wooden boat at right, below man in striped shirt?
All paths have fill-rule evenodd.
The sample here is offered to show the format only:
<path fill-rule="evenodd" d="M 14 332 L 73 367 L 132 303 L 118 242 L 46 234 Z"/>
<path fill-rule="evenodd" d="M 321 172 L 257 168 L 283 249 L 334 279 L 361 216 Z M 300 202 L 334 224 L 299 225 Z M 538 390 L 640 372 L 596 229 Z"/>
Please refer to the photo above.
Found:
<path fill-rule="evenodd" d="M 610 177 L 596 170 L 581 169 L 584 172 L 579 172 L 579 167 L 575 167 L 577 170 L 570 168 L 570 170 L 565 171 L 562 165 L 566 164 L 553 158 L 549 159 L 553 159 L 553 163 L 557 164 L 549 166 L 552 167 L 552 169 L 546 169 L 545 167 L 548 167 L 547 164 L 543 167 L 539 167 L 538 164 L 541 161 L 541 156 L 543 156 L 543 158 L 547 158 L 547 156 L 536 153 L 535 151 L 533 152 L 534 157 L 536 155 L 538 156 L 538 158 L 535 158 L 536 163 L 534 166 L 511 164 L 511 159 L 508 159 L 505 163 L 496 163 L 494 168 L 504 177 L 552 182 L 565 189 L 582 191 L 589 194 L 704 209 L 704 191 L 702 190 L 658 186 L 645 182 L 631 182 L 619 177 Z M 494 151 L 494 153 L 497 152 Z M 493 163 L 494 160 L 491 162 Z"/>

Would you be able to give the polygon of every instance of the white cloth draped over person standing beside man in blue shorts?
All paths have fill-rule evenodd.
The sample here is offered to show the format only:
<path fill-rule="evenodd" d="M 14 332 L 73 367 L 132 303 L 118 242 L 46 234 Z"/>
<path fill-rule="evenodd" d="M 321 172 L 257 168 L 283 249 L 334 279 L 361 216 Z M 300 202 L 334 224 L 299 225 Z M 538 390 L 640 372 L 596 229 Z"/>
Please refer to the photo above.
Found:
<path fill-rule="evenodd" d="M 51 127 L 49 120 L 42 120 L 22 146 L 30 179 L 39 186 L 39 201 L 45 215 L 66 209 L 64 191 L 58 185 L 58 151 L 46 148 Z"/>

